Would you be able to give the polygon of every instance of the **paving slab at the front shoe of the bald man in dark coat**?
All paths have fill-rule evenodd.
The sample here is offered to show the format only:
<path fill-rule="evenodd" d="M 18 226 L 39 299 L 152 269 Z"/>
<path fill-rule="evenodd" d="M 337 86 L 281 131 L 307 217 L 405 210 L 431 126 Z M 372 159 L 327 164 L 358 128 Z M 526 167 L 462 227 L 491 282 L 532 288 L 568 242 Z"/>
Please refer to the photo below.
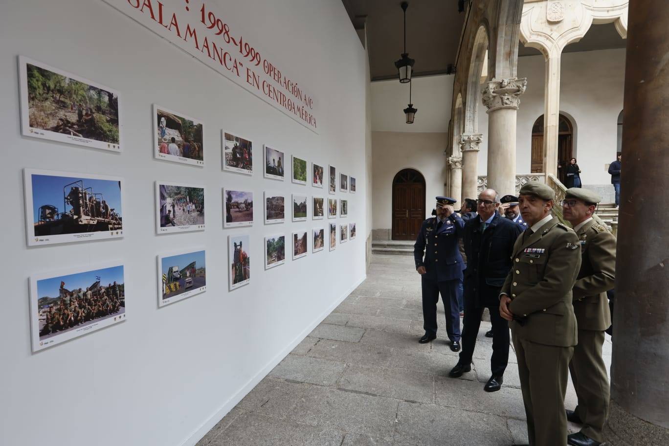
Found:
<path fill-rule="evenodd" d="M 499 391 L 486 392 L 478 381 L 435 378 L 436 404 L 453 409 L 488 413 L 500 417 L 525 419 L 525 407 L 519 388 L 502 386 Z"/>

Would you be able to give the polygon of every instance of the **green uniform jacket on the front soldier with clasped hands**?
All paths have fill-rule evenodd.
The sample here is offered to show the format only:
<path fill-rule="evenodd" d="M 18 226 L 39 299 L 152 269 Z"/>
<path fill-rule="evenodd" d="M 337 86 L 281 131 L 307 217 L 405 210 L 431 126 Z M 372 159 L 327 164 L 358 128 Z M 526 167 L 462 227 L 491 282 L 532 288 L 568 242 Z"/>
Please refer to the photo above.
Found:
<path fill-rule="evenodd" d="M 511 331 L 538 344 L 577 343 L 571 289 L 581 267 L 579 239 L 555 217 L 532 235 L 522 233 L 513 247 L 512 267 L 502 294 L 512 299 Z"/>

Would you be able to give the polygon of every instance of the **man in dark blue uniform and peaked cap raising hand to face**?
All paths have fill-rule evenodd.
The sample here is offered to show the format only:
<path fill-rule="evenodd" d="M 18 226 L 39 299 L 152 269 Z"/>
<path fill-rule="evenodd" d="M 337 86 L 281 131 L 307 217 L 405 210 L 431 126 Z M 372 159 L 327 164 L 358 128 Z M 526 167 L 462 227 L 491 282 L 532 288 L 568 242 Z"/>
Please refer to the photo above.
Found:
<path fill-rule="evenodd" d="M 423 221 L 413 245 L 416 271 L 421 275 L 423 291 L 423 328 L 425 334 L 419 342 L 425 344 L 437 337 L 437 302 L 442 294 L 446 312 L 446 332 L 451 350 L 460 350 L 460 309 L 458 285 L 462 280 L 462 255 L 458 237 L 462 235 L 464 221 L 455 213 L 456 200 L 436 197 L 437 215 Z M 424 255 L 424 257 L 423 257 Z"/>

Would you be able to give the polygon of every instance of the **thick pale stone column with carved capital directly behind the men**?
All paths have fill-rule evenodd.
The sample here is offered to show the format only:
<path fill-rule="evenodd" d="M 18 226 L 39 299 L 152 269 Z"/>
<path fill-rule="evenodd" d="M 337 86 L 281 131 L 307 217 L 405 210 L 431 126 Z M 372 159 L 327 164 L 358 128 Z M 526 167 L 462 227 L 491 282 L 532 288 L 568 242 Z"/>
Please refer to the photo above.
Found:
<path fill-rule="evenodd" d="M 495 79 L 483 92 L 488 108 L 488 187 L 500 195 L 516 190 L 516 112 L 527 79 Z"/>

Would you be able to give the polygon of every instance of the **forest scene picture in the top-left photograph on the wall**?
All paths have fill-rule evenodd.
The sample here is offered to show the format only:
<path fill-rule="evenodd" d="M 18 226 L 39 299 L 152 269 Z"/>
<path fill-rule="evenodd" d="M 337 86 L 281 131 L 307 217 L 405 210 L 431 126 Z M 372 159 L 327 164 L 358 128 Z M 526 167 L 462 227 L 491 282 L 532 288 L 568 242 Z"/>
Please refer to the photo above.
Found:
<path fill-rule="evenodd" d="M 26 64 L 29 126 L 118 144 L 118 95 Z"/>

